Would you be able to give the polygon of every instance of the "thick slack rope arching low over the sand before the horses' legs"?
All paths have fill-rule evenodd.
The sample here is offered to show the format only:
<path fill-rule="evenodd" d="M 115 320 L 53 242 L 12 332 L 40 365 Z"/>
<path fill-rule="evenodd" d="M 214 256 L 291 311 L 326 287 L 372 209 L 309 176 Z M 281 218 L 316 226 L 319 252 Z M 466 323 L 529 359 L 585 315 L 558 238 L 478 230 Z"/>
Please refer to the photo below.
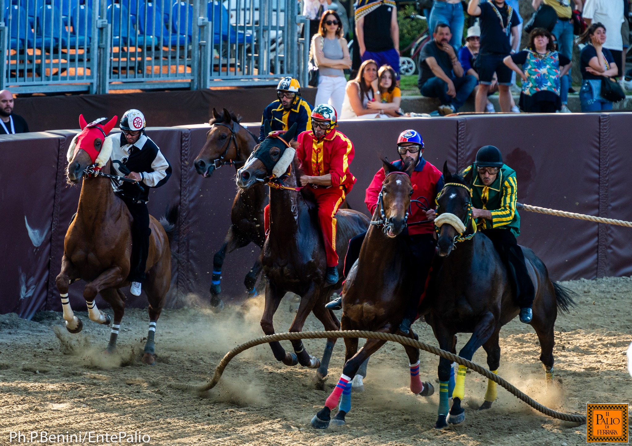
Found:
<path fill-rule="evenodd" d="M 271 343 L 274 341 L 289 341 L 293 339 L 327 339 L 327 338 L 332 338 L 332 337 L 358 337 L 358 338 L 362 337 L 364 339 L 382 339 L 382 341 L 392 341 L 392 342 L 400 343 L 403 345 L 408 345 L 411 347 L 422 349 L 423 351 L 427 351 L 428 353 L 432 353 L 433 355 L 446 358 L 447 360 L 451 362 L 456 362 L 460 365 L 465 365 L 465 367 L 471 370 L 474 370 L 474 372 L 480 373 L 480 375 L 483 375 L 484 377 L 489 378 L 490 380 L 496 382 L 497 384 L 507 389 L 511 394 L 521 399 L 522 401 L 526 402 L 526 404 L 528 404 L 529 406 L 531 406 L 533 409 L 537 410 L 538 412 L 542 412 L 547 416 L 550 416 L 552 418 L 557 418 L 563 421 L 571 421 L 574 423 L 581 423 L 581 424 L 586 423 L 586 417 L 583 415 L 573 415 L 573 414 L 568 414 L 568 413 L 557 412 L 557 411 L 554 411 L 553 409 L 549 409 L 545 406 L 542 406 L 542 404 L 535 401 L 535 399 L 521 392 L 521 390 L 516 389 L 514 385 L 502 379 L 495 373 L 490 372 L 486 368 L 481 367 L 480 365 L 476 363 L 463 359 L 461 358 L 461 356 L 454 355 L 453 353 L 450 353 L 449 351 L 442 350 L 440 348 L 428 345 L 426 343 L 422 343 L 420 341 L 415 341 L 415 339 L 411 339 L 410 337 L 399 336 L 397 334 L 391 334 L 391 333 L 380 333 L 380 332 L 375 332 L 375 331 L 363 331 L 363 330 L 305 331 L 305 332 L 298 332 L 298 333 L 276 333 L 276 334 L 270 334 L 269 336 L 257 337 L 255 339 L 252 339 L 251 341 L 248 341 L 239 346 L 236 346 L 231 351 L 226 353 L 226 355 L 224 355 L 224 358 L 222 358 L 222 360 L 219 361 L 219 365 L 217 365 L 215 369 L 213 378 L 209 382 L 207 382 L 207 384 L 204 384 L 204 385 L 171 384 L 171 387 L 173 387 L 174 389 L 205 392 L 216 386 L 217 382 L 219 382 L 219 379 L 222 376 L 222 373 L 224 373 L 224 368 L 226 368 L 228 363 L 235 356 L 239 355 L 242 351 L 245 351 L 249 348 L 253 348 L 260 344 Z"/>

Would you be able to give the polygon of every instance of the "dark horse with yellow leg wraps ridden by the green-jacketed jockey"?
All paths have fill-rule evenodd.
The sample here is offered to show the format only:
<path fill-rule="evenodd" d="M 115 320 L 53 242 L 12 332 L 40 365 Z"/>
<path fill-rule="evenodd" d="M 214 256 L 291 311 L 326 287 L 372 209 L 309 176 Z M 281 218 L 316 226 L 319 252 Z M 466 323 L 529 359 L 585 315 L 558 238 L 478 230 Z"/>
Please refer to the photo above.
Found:
<path fill-rule="evenodd" d="M 487 353 L 489 370 L 500 365 L 499 332 L 504 324 L 520 312 L 511 278 L 494 244 L 483 233 L 475 232 L 471 217 L 471 175 L 451 174 L 444 165 L 446 184 L 437 198 L 439 228 L 437 254 L 442 259 L 435 265 L 429 295 L 434 298 L 425 320 L 432 326 L 439 347 L 455 352 L 455 335 L 471 333 L 459 356 L 471 360 L 482 346 Z M 554 326 L 557 310 L 574 305 L 571 293 L 549 278 L 547 268 L 532 250 L 522 248 L 529 276 L 535 285 L 533 319 L 530 325 L 540 341 L 540 361 L 544 364 L 547 382 L 552 379 Z M 435 428 L 447 423 L 458 425 L 465 420 L 461 407 L 465 397 L 466 368 L 459 365 L 453 404 L 448 412 L 450 361 L 439 360 L 439 418 Z M 480 409 L 489 409 L 496 398 L 496 384 L 488 380 L 485 402 Z M 446 419 L 447 416 L 447 419 Z M 447 423 L 446 423 L 447 421 Z"/>

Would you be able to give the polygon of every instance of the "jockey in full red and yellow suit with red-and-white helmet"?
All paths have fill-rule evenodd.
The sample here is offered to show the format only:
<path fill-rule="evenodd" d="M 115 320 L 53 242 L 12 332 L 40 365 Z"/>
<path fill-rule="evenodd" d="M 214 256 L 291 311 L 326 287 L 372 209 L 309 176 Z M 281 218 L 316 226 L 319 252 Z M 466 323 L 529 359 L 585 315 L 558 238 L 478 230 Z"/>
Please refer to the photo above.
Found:
<path fill-rule="evenodd" d="M 312 110 L 312 129 L 296 138 L 296 157 L 303 164 L 300 182 L 310 187 L 318 205 L 320 229 L 327 254 L 329 284 L 338 281 L 338 255 L 336 254 L 336 212 L 344 197 L 353 188 L 356 179 L 349 171 L 353 161 L 353 143 L 337 131 L 337 114 L 334 107 L 320 104 Z"/>

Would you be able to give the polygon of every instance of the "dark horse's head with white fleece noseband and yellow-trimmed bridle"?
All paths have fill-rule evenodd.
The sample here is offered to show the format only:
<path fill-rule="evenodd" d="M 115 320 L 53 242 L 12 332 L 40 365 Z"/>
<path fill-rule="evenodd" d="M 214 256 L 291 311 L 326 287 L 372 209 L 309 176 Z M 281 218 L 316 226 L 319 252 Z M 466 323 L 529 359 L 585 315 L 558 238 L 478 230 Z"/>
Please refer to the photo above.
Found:
<path fill-rule="evenodd" d="M 470 196 L 472 172 L 470 170 L 462 177 L 448 170 L 447 161 L 443 165 L 445 185 L 437 197 L 435 218 L 435 226 L 439 228 L 438 254 L 441 257 L 450 255 L 454 242 L 466 232 L 468 226 L 473 225 Z"/>

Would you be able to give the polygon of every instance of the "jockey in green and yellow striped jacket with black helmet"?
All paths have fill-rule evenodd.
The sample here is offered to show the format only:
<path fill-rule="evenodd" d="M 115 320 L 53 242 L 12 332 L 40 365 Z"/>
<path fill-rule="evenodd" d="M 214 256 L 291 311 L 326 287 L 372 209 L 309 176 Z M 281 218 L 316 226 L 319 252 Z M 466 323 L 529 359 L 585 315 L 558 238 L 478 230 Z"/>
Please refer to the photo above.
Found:
<path fill-rule="evenodd" d="M 535 288 L 526 270 L 525 255 L 516 237 L 520 235 L 520 214 L 516 210 L 518 182 L 516 172 L 502 163 L 501 151 L 495 146 L 478 150 L 476 161 L 463 170 L 466 175 L 474 169 L 471 180 L 472 218 L 477 231 L 487 235 L 507 266 L 507 275 L 516 288 L 516 302 L 520 306 L 520 322 L 528 324 L 533 317 Z"/>

